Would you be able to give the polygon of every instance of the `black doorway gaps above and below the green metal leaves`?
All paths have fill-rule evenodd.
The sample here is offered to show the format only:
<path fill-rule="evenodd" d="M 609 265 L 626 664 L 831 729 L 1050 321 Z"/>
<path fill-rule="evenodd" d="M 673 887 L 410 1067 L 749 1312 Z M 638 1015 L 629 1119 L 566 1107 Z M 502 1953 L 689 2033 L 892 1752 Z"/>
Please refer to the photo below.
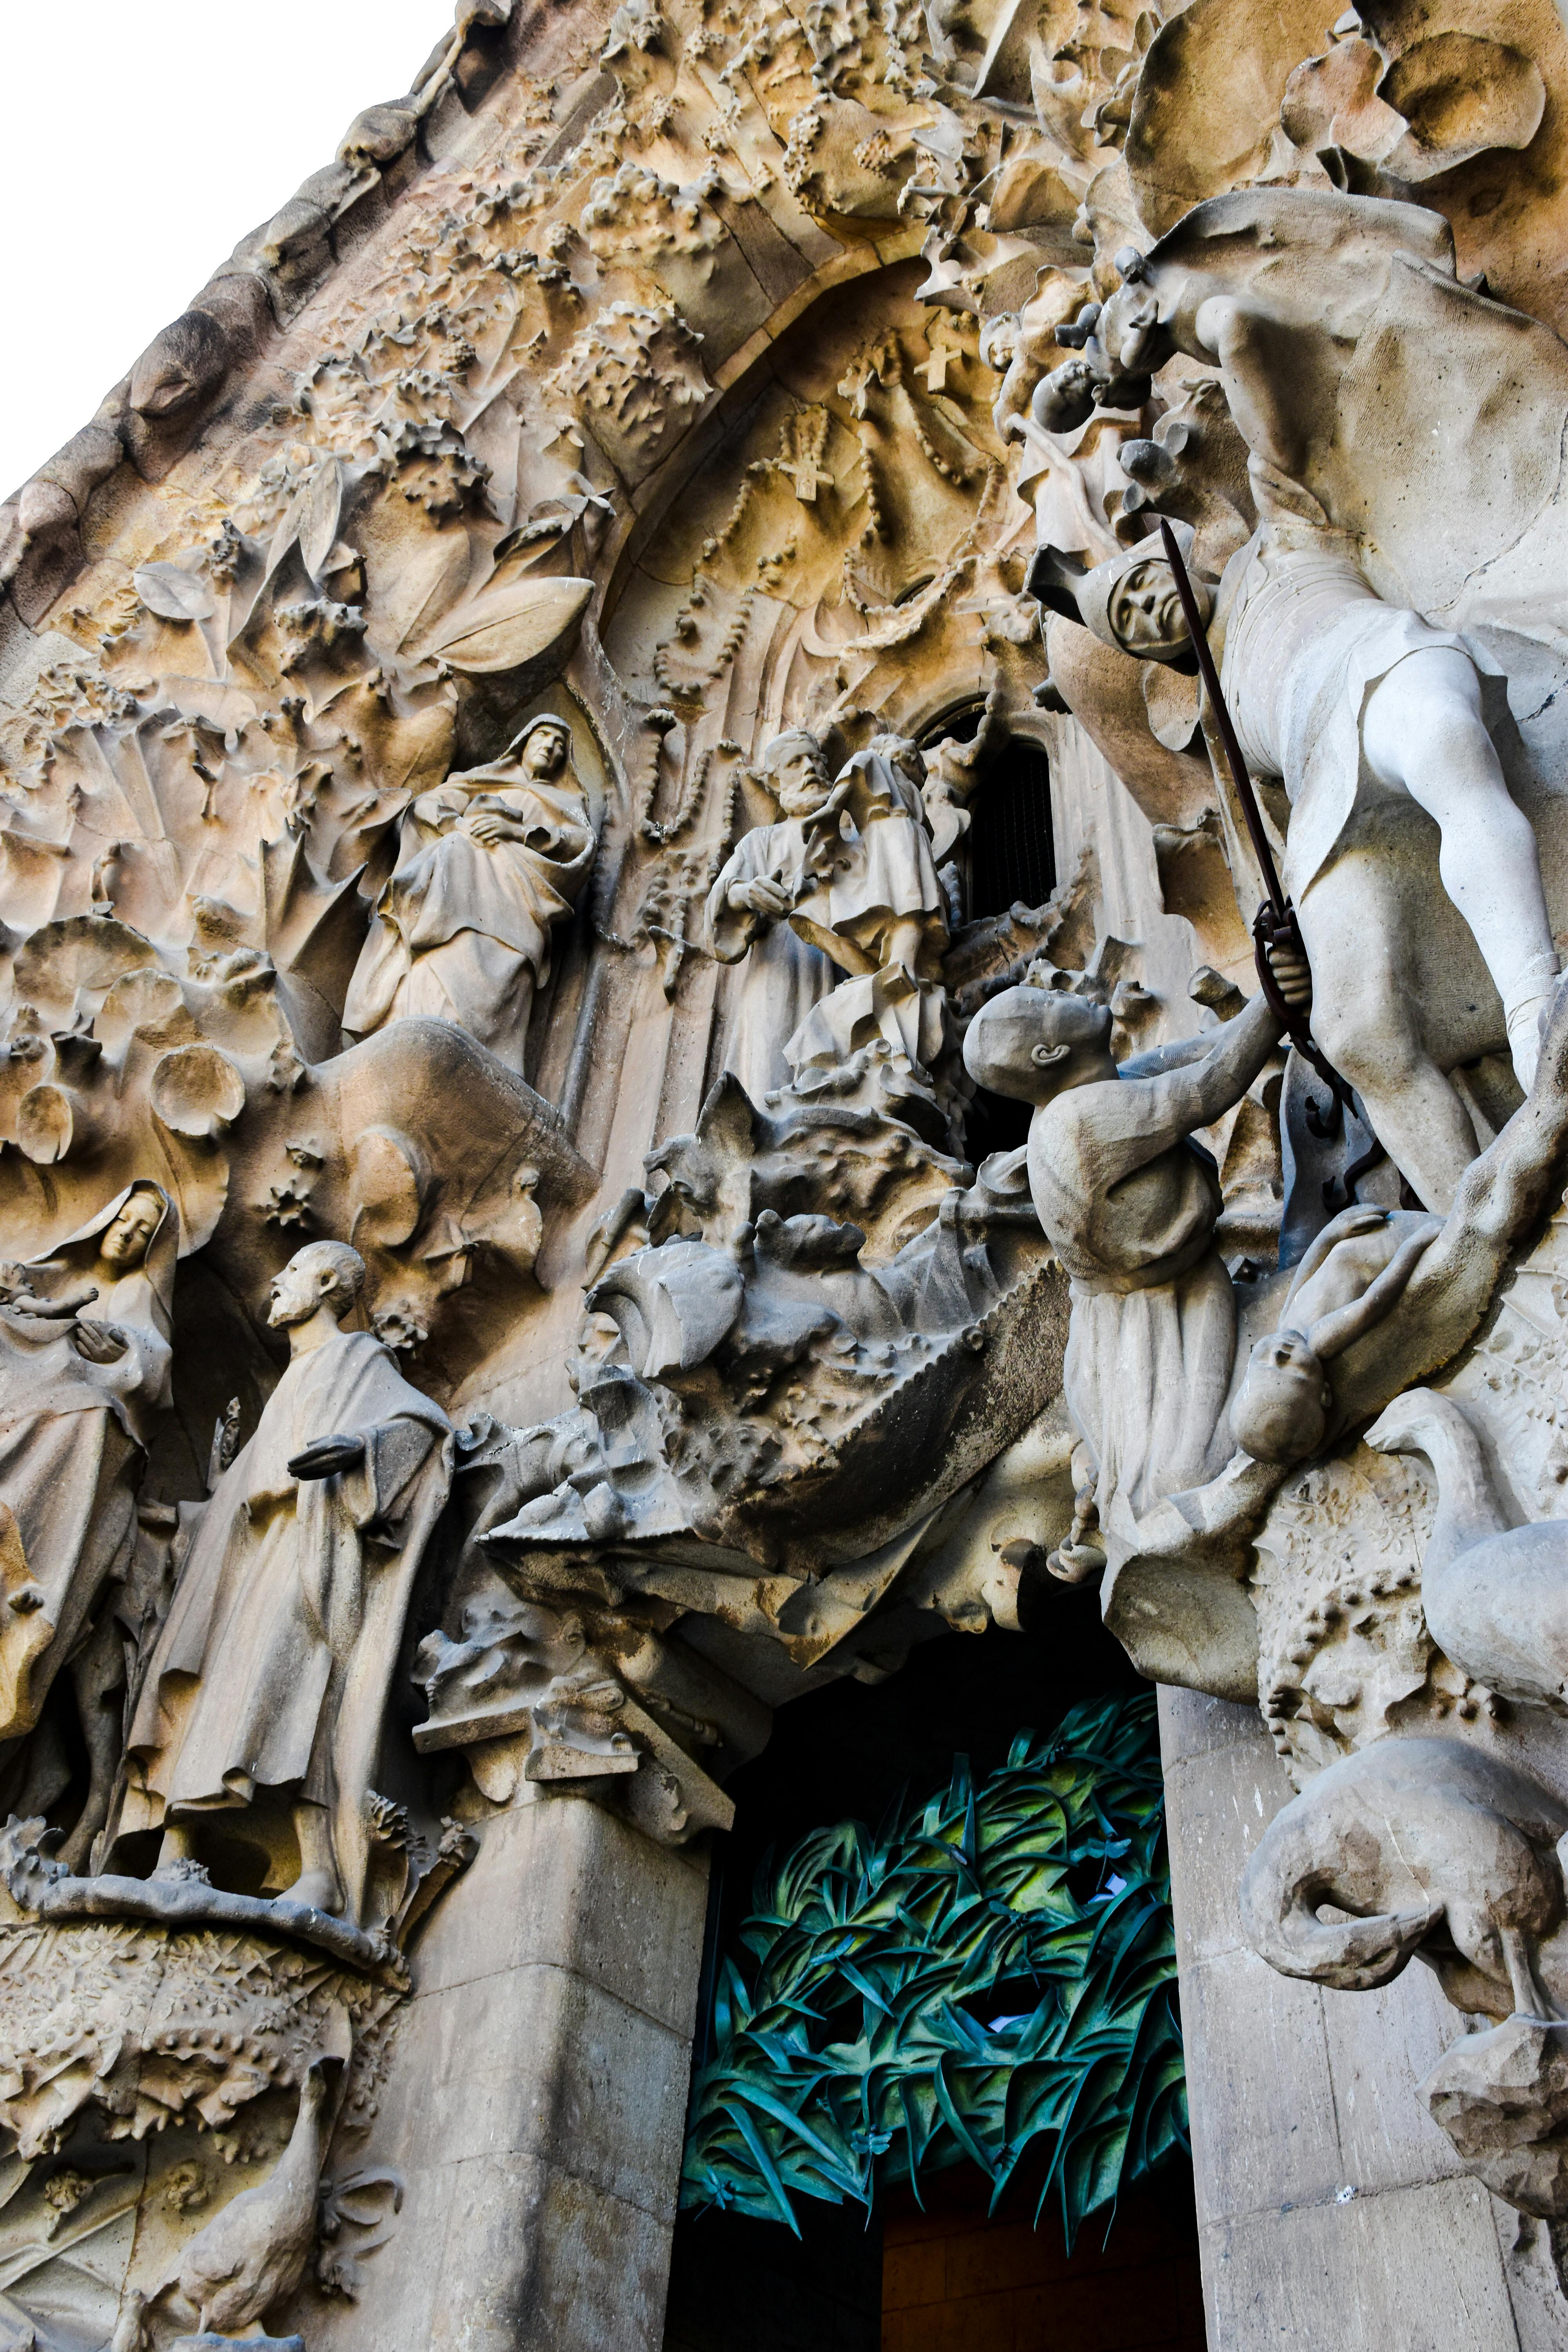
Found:
<path fill-rule="evenodd" d="M 1138 1686 L 1088 1588 L 1048 1585 L 1025 1625 L 924 1642 L 877 1686 L 835 1682 L 778 1710 L 771 1743 L 729 1783 L 736 1825 L 715 1839 L 715 1947 L 733 1943 L 769 1851 L 851 1813 L 875 1825 L 910 1792 L 943 1785 L 954 1752 L 985 1778 L 1018 1729 L 1053 1729 L 1086 1693 Z M 1006 1980 L 980 2006 L 990 2018 L 1037 1999 L 1027 1980 Z M 710 1999 L 698 2060 L 708 2013 Z M 663 2352 L 1201 2352 L 1187 2159 L 1140 2180 L 1114 2216 L 1093 2213 L 1072 2256 L 1051 2206 L 1034 2220 L 1046 2161 L 1044 2147 L 1025 2154 L 994 2211 L 976 2166 L 922 2176 L 919 2199 L 889 2187 L 870 2216 L 797 2197 L 799 2239 L 780 2220 L 684 2211 Z"/>

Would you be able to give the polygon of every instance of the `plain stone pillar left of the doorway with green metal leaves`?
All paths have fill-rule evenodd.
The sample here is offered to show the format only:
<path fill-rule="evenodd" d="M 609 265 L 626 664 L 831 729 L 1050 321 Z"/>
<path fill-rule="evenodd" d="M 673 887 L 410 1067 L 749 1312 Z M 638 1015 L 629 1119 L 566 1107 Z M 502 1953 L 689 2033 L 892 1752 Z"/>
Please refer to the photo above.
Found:
<path fill-rule="evenodd" d="M 310 2298 L 310 2352 L 663 2345 L 708 1858 L 583 1797 L 520 1799 L 414 1945 L 350 2152 L 402 2176 L 402 2211 L 357 2303 Z"/>

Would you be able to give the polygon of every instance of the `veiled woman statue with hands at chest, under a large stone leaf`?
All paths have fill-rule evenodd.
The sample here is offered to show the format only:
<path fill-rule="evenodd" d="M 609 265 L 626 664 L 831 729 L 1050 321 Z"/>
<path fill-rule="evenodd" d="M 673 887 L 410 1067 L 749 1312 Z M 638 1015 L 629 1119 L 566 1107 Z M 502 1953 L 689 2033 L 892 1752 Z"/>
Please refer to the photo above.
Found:
<path fill-rule="evenodd" d="M 571 915 L 592 851 L 564 720 L 529 720 L 491 767 L 421 793 L 348 985 L 346 1033 L 454 1021 L 522 1075 L 550 931 Z"/>

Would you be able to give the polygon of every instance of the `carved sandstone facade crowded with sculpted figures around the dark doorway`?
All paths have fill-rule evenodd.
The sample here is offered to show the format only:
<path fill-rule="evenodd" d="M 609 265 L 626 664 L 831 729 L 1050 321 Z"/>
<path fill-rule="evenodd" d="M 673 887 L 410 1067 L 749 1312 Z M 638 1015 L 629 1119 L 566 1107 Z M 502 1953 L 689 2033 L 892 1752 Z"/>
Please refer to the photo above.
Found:
<path fill-rule="evenodd" d="M 1556 14 L 437 33 L 0 508 L 5 2326 L 656 2345 L 451 1938 L 1058 1581 L 1568 2218 Z"/>

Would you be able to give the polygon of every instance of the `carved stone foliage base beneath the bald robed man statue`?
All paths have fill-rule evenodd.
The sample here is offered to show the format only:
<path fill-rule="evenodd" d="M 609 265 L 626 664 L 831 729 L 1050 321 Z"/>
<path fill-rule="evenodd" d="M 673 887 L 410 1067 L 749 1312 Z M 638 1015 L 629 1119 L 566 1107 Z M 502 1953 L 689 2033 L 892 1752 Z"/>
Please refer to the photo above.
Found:
<path fill-rule="evenodd" d="M 7 2324 L 162 2347 L 254 2333 L 303 2279 L 353 2296 L 402 2199 L 357 2161 L 397 1994 L 244 1933 L 7 1910 Z"/>

